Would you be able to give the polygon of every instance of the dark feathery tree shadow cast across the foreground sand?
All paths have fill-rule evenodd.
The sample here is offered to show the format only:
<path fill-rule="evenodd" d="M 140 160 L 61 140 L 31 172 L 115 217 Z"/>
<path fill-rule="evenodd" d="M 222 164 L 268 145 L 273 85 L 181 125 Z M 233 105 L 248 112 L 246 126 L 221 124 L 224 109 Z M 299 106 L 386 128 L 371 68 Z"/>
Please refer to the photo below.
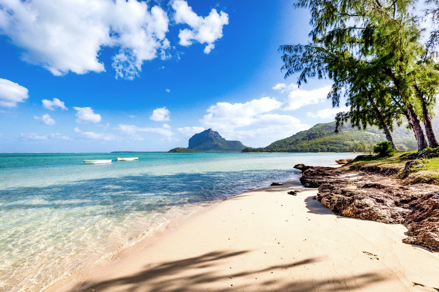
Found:
<path fill-rule="evenodd" d="M 384 281 L 378 272 L 337 278 L 300 279 L 296 268 L 319 261 L 317 258 L 298 260 L 282 266 L 267 266 L 262 269 L 248 269 L 245 272 L 233 272 L 225 263 L 233 257 L 240 257 L 250 251 L 216 251 L 182 260 L 145 265 L 141 271 L 120 278 L 105 281 L 86 281 L 78 289 L 83 292 L 124 291 L 124 292 L 185 292 L 185 291 L 349 291 L 353 288 L 365 288 L 371 283 Z M 289 269 L 283 278 L 276 278 L 280 269 Z M 273 274 L 273 271 L 276 274 Z M 296 272 L 295 272 L 296 271 Z M 286 276 L 288 275 L 288 277 Z M 255 278 L 255 276 L 259 276 Z M 214 283 L 215 284 L 210 284 Z M 231 287 L 231 283 L 235 283 Z"/>

